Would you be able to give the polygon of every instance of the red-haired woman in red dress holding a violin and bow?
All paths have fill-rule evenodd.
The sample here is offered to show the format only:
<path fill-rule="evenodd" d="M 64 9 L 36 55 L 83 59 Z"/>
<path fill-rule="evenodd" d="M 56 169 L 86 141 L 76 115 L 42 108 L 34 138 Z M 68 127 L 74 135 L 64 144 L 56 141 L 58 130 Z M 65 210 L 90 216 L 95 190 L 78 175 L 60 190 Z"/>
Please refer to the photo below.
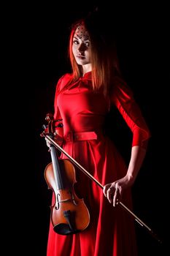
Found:
<path fill-rule="evenodd" d="M 62 119 L 63 129 L 56 130 L 55 139 L 63 140 L 63 149 L 104 189 L 77 170 L 77 191 L 90 212 L 90 224 L 81 233 L 63 236 L 50 223 L 47 256 L 136 256 L 134 220 L 117 204 L 121 200 L 132 208 L 131 186 L 144 160 L 150 131 L 121 78 L 111 30 L 100 24 L 97 15 L 72 27 L 69 58 L 72 74 L 63 75 L 56 86 L 54 118 Z M 133 135 L 128 167 L 104 132 L 112 105 Z"/>

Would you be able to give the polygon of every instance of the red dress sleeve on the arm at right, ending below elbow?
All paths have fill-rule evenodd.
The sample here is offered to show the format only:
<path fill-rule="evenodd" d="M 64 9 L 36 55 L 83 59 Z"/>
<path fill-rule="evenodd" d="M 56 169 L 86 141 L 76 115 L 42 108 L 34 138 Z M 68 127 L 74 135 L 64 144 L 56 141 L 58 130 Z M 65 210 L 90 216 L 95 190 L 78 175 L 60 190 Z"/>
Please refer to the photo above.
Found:
<path fill-rule="evenodd" d="M 147 141 L 150 138 L 150 129 L 147 127 L 131 89 L 121 78 L 116 77 L 114 80 L 111 103 L 117 107 L 131 132 L 133 132 L 132 146 L 146 148 Z"/>

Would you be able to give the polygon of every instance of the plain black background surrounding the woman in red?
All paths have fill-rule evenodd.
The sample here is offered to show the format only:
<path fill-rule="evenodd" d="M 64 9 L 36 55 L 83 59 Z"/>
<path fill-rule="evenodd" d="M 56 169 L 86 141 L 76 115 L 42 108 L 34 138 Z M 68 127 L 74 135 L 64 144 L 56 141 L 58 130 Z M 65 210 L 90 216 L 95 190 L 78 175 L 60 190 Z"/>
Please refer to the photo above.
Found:
<path fill-rule="evenodd" d="M 4 64 L 8 68 L 4 112 L 9 116 L 8 146 L 12 154 L 7 162 L 7 170 L 12 171 L 7 171 L 11 197 L 6 208 L 7 239 L 10 237 L 12 246 L 6 249 L 16 249 L 18 255 L 46 255 L 51 192 L 44 170 L 50 154 L 40 133 L 45 115 L 53 112 L 55 84 L 70 71 L 69 26 L 96 5 L 93 1 L 81 6 L 80 2 L 61 3 L 61 7 L 25 3 L 15 4 L 15 9 L 5 8 Z M 136 223 L 139 256 L 165 255 L 169 173 L 167 7 L 144 3 L 113 3 L 110 7 L 106 1 L 98 5 L 116 29 L 123 76 L 133 89 L 152 134 L 147 157 L 133 187 L 134 213 L 160 236 L 163 246 Z M 115 143 L 128 161 L 131 135 L 118 115 L 115 131 Z M 11 233 L 14 230 L 18 230 L 19 236 Z"/>

